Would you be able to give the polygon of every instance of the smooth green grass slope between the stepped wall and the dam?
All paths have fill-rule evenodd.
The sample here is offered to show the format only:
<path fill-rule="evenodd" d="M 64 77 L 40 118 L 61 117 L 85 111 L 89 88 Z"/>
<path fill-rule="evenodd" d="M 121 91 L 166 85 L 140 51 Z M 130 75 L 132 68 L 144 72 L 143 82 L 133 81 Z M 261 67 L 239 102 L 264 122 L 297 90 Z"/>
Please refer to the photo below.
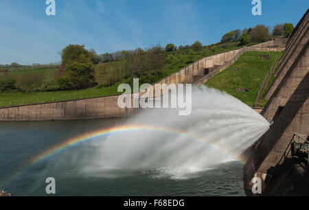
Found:
<path fill-rule="evenodd" d="M 262 55 L 270 55 L 270 59 L 262 60 L 260 59 Z M 282 56 L 282 52 L 246 52 L 231 67 L 228 67 L 205 84 L 220 91 L 225 91 L 249 106 L 254 106 L 258 92 L 266 74 L 275 63 L 276 56 Z M 232 71 L 232 69 L 241 69 L 241 71 Z M 236 92 L 235 89 L 238 88 L 247 88 L 249 92 Z"/>

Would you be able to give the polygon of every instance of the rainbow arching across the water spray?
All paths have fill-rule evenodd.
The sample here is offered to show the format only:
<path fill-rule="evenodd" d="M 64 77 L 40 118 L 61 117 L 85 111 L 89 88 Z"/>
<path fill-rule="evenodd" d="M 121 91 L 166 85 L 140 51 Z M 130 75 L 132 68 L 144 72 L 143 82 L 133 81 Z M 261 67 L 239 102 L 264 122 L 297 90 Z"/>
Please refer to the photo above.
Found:
<path fill-rule="evenodd" d="M 244 161 L 242 161 L 242 159 L 240 159 L 240 157 L 238 157 L 237 154 L 231 154 L 226 148 L 222 148 L 222 146 L 217 145 L 216 143 L 209 142 L 207 141 L 207 139 L 204 139 L 203 137 L 197 137 L 196 135 L 193 135 L 190 132 L 184 132 L 182 130 L 176 130 L 176 129 L 171 129 L 171 128 L 163 128 L 159 126 L 126 125 L 126 126 L 115 126 L 111 128 L 104 128 L 101 130 L 96 130 L 94 132 L 89 132 L 83 135 L 78 135 L 76 137 L 68 139 L 67 141 L 64 141 L 63 143 L 54 145 L 54 147 L 49 148 L 48 150 L 45 150 L 41 154 L 38 154 L 37 156 L 35 156 L 33 159 L 30 159 L 30 161 L 27 161 L 27 163 L 23 164 L 22 168 L 19 168 L 18 173 L 17 174 L 15 173 L 12 176 L 10 176 L 11 178 L 9 178 L 9 180 L 14 179 L 16 176 L 21 176 L 21 174 L 23 174 L 23 172 L 25 172 L 32 165 L 38 162 L 44 161 L 45 159 L 49 159 L 52 156 L 56 156 L 57 154 L 60 154 L 61 152 L 65 152 L 66 150 L 74 148 L 82 143 L 93 141 L 95 139 L 99 139 L 100 137 L 105 137 L 108 135 L 115 135 L 115 134 L 123 133 L 123 132 L 143 132 L 143 131 L 166 132 L 169 134 L 179 135 L 179 136 L 187 137 L 190 139 L 204 141 L 211 147 L 216 148 L 218 149 L 218 151 L 231 157 L 231 159 L 235 159 L 237 161 L 240 161 L 241 163 L 244 163 Z"/>

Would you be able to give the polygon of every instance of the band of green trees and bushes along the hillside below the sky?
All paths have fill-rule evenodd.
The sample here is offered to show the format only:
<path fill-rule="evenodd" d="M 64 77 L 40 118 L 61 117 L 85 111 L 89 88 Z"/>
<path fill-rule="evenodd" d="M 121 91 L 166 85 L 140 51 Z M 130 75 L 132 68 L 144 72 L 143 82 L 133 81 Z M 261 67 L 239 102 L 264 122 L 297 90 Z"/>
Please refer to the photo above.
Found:
<path fill-rule="evenodd" d="M 233 30 L 222 36 L 220 43 L 203 46 L 200 41 L 192 45 L 176 47 L 168 43 L 165 47 L 155 45 L 148 49 L 116 51 L 112 54 L 97 54 L 93 49 L 85 49 L 84 45 L 68 45 L 62 49 L 61 65 L 57 71 L 46 76 L 39 73 L 25 73 L 14 76 L 8 69 L 0 70 L 0 92 L 6 91 L 60 91 L 98 88 L 113 86 L 117 82 L 131 84 L 133 78 L 139 78 L 141 83 L 154 83 L 166 76 L 163 69 L 181 68 L 193 62 L 196 58 L 215 54 L 216 46 L 227 50 L 231 44 L 247 45 L 261 43 L 271 36 L 289 36 L 294 26 L 291 23 L 279 24 L 270 33 L 265 25 L 257 25 L 244 30 Z M 226 49 L 225 49 L 226 48 Z M 198 56 L 199 55 L 199 56 Z M 59 66 L 59 65 L 58 65 Z M 23 69 L 17 63 L 10 68 Z M 55 67 L 55 65 L 32 65 L 32 69 Z M 9 70 L 10 71 L 10 70 Z M 173 70 L 174 71 L 174 70 Z"/>

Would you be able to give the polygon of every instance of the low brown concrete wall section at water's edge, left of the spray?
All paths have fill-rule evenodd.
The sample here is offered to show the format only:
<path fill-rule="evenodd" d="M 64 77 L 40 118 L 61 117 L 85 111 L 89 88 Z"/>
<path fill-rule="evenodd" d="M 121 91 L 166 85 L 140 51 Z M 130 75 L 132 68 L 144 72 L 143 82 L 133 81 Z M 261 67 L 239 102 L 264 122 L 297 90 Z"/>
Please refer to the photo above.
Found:
<path fill-rule="evenodd" d="M 98 119 L 134 115 L 136 108 L 119 108 L 118 95 L 85 100 L 15 106 L 0 109 L 1 121 Z"/>

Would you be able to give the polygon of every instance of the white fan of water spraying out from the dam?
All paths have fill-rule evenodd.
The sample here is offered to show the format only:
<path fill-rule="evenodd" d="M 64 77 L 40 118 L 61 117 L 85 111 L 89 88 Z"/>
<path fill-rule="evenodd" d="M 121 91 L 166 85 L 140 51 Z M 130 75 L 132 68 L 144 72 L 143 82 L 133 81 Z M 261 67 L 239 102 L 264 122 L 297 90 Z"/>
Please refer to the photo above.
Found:
<path fill-rule="evenodd" d="M 104 176 L 111 170 L 156 170 L 163 176 L 185 178 L 235 160 L 269 128 L 255 110 L 206 86 L 194 89 L 191 115 L 179 116 L 176 109 L 144 110 L 127 124 L 181 130 L 200 139 L 160 130 L 109 135 L 91 143 L 96 149 L 84 172 L 100 171 Z"/>

